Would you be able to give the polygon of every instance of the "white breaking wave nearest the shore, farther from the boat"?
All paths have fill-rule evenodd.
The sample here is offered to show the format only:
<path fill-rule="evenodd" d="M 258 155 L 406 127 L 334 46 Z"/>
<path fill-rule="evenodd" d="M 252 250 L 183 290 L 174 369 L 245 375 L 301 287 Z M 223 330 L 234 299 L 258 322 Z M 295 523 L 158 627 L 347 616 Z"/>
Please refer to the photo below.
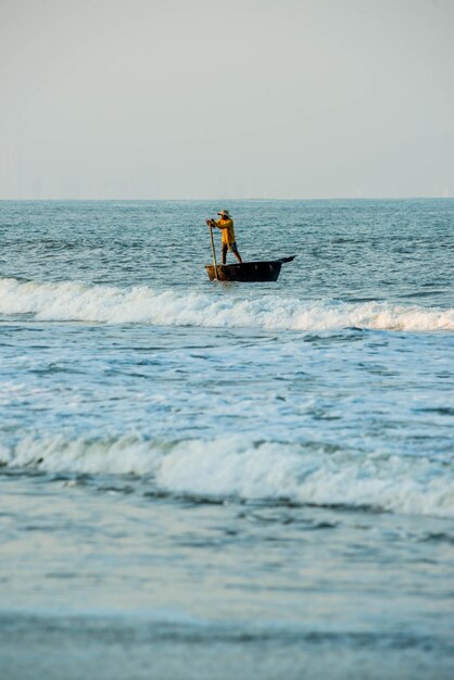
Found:
<path fill-rule="evenodd" d="M 76 475 L 134 475 L 153 490 L 197 499 L 267 500 L 454 517 L 446 461 L 366 454 L 320 444 L 141 436 L 65 439 L 29 435 L 0 448 L 0 464 Z"/>

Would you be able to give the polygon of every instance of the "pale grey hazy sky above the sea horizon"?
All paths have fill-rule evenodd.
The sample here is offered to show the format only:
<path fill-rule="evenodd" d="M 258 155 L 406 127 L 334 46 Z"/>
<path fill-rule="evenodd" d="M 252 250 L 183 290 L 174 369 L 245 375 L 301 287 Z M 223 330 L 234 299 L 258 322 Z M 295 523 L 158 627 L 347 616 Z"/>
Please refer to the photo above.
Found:
<path fill-rule="evenodd" d="M 0 0 L 0 199 L 454 197 L 454 0 Z"/>

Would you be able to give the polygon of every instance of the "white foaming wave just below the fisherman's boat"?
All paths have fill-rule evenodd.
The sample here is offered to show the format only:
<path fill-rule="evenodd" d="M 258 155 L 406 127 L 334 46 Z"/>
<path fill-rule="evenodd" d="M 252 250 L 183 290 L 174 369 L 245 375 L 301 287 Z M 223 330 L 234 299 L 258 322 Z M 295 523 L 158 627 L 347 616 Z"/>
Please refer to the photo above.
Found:
<path fill-rule="evenodd" d="M 79 320 L 154 326 L 205 326 L 269 330 L 454 330 L 454 308 L 386 302 L 303 301 L 274 294 L 218 295 L 0 279 L 0 314 L 33 314 L 39 320 Z"/>

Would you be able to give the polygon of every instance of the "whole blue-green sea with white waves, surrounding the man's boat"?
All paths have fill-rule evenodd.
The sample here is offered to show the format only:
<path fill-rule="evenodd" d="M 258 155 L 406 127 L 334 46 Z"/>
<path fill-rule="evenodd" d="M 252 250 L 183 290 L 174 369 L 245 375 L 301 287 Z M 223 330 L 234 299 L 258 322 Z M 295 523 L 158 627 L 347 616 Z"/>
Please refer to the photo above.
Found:
<path fill-rule="evenodd" d="M 223 207 L 277 282 L 209 281 Z M 3 201 L 0 242 L 2 678 L 454 677 L 454 200 Z"/>

